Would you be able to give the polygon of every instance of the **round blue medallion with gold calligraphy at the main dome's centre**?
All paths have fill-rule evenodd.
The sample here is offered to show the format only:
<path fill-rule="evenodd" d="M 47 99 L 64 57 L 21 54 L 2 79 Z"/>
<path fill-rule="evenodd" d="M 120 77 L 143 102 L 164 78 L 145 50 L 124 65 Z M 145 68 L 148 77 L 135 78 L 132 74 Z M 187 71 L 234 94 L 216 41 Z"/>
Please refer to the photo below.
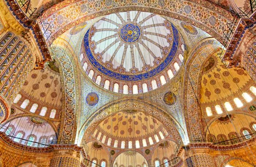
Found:
<path fill-rule="evenodd" d="M 125 24 L 119 32 L 120 38 L 127 43 L 133 43 L 139 40 L 141 31 L 138 25 L 133 23 Z"/>

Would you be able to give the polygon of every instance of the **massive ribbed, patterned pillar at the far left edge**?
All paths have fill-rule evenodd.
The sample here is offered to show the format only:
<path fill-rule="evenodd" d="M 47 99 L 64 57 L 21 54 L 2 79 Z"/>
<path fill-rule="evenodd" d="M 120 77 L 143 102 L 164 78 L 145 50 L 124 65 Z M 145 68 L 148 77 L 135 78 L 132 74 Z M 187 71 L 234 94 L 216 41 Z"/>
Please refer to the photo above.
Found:
<path fill-rule="evenodd" d="M 20 37 L 7 32 L 0 39 L 0 122 L 9 117 L 10 105 L 34 64 L 31 50 Z"/>

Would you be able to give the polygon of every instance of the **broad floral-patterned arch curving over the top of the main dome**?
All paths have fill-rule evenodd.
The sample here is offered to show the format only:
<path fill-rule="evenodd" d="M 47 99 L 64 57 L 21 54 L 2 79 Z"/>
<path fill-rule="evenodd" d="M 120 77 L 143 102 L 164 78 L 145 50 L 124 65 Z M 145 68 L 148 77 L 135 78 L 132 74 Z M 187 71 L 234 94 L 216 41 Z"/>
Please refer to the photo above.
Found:
<path fill-rule="evenodd" d="M 230 12 L 206 1 L 200 1 L 200 4 L 195 2 L 191 3 L 185 0 L 172 1 L 172 3 L 167 0 L 159 0 L 149 3 L 142 0 L 139 0 L 137 3 L 133 3 L 132 0 L 123 1 L 122 3 L 111 0 L 106 1 L 105 3 L 91 1 L 89 5 L 84 5 L 85 3 L 87 2 L 76 1 L 67 3 L 64 1 L 42 14 L 44 24 L 56 23 L 48 30 L 52 32 L 52 35 L 45 36 L 45 39 L 49 39 L 47 41 L 48 44 L 51 44 L 54 39 L 61 35 L 61 33 L 77 24 L 91 20 L 95 17 L 124 11 L 152 12 L 186 21 L 195 27 L 203 29 L 219 41 L 222 41 L 221 36 L 223 36 L 223 30 L 228 30 L 227 23 L 230 23 L 234 19 L 234 16 L 231 15 Z M 164 10 L 165 8 L 168 10 Z M 63 13 L 65 13 L 65 15 L 63 15 Z"/>

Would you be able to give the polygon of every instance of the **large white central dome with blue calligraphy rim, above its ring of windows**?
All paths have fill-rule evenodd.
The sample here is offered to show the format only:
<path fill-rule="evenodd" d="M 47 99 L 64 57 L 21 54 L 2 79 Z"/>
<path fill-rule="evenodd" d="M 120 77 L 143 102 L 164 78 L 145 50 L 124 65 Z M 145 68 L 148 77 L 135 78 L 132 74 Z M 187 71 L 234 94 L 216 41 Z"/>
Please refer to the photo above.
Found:
<path fill-rule="evenodd" d="M 115 13 L 103 17 L 86 32 L 84 58 L 112 79 L 140 81 L 170 65 L 178 43 L 177 29 L 159 15 Z"/>

